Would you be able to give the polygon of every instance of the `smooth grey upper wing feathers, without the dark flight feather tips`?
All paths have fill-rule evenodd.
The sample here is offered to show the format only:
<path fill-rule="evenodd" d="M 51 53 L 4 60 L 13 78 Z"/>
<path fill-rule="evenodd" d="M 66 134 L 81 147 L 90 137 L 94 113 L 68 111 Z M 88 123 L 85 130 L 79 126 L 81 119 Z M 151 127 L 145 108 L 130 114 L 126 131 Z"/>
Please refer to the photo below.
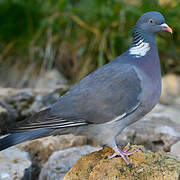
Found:
<path fill-rule="evenodd" d="M 88 123 L 109 122 L 137 109 L 141 92 L 141 81 L 132 65 L 109 63 L 60 98 L 50 115 L 76 115 Z"/>

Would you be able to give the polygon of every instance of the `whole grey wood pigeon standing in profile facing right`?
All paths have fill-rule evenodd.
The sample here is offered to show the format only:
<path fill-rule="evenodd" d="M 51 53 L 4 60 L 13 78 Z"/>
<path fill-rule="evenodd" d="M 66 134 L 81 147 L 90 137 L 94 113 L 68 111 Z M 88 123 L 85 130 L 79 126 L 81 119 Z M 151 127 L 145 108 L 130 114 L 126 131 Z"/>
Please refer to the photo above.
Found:
<path fill-rule="evenodd" d="M 129 49 L 108 64 L 87 75 L 57 102 L 17 123 L 0 139 L 0 150 L 27 140 L 56 135 L 85 135 L 114 149 L 127 165 L 138 151 L 119 147 L 123 129 L 150 112 L 161 94 L 161 68 L 156 35 L 172 33 L 163 15 L 143 14 L 137 21 Z"/>

